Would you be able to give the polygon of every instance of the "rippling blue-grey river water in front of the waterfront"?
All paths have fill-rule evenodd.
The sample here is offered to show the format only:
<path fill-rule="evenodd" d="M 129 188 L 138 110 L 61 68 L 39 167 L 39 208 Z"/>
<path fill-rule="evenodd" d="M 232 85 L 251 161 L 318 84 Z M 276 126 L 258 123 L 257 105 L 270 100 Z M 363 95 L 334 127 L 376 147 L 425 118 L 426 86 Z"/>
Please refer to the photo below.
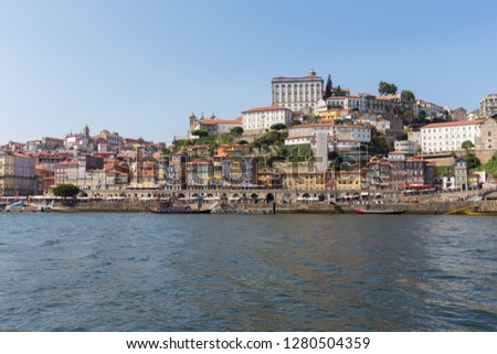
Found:
<path fill-rule="evenodd" d="M 496 331 L 496 225 L 0 213 L 0 331 Z"/>

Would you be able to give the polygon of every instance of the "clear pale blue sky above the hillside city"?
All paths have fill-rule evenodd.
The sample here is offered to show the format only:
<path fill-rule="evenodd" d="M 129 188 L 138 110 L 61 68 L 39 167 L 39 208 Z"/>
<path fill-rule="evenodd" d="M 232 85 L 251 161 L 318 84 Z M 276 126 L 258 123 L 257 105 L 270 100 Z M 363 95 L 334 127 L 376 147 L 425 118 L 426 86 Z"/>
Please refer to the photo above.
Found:
<path fill-rule="evenodd" d="M 314 68 L 451 108 L 497 92 L 497 1 L 0 0 L 0 143 L 87 124 L 170 142 Z"/>

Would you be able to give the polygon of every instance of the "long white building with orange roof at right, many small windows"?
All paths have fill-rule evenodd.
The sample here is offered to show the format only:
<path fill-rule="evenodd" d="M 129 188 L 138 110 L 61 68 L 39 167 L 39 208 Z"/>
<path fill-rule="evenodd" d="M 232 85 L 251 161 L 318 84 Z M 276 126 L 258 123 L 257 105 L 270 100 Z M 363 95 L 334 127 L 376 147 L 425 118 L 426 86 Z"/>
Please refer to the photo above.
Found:
<path fill-rule="evenodd" d="M 484 121 L 485 119 L 477 119 L 424 126 L 420 129 L 421 150 L 424 153 L 458 151 L 463 149 L 462 144 L 467 140 L 476 147 Z"/>

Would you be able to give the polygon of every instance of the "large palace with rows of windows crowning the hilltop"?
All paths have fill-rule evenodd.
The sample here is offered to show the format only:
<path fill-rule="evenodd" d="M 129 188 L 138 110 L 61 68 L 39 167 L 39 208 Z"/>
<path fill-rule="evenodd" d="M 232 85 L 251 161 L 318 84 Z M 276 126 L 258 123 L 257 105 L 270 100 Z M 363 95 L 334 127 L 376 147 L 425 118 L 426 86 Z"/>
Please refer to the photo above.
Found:
<path fill-rule="evenodd" d="M 322 77 L 311 69 L 304 77 L 275 77 L 273 87 L 273 106 L 282 106 L 293 111 L 314 111 L 322 98 Z"/>

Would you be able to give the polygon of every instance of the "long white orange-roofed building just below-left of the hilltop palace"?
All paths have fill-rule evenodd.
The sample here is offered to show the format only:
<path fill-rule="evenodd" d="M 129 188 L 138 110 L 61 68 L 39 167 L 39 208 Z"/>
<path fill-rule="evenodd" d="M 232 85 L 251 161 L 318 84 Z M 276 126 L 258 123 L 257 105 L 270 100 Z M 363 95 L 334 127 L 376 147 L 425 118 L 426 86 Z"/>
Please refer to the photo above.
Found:
<path fill-rule="evenodd" d="M 289 127 L 294 114 L 290 109 L 281 106 L 258 107 L 244 110 L 243 131 L 247 133 L 264 132 L 271 126 L 284 124 Z"/>

